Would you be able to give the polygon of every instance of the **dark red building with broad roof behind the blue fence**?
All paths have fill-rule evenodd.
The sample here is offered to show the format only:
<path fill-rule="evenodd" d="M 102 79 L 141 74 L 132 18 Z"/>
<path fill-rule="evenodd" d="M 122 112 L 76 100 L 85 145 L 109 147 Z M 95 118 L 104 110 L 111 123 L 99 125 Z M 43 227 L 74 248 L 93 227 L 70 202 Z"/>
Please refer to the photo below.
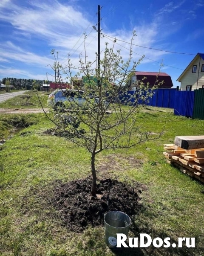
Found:
<path fill-rule="evenodd" d="M 162 84 L 159 84 L 163 81 Z M 141 82 L 144 84 L 149 84 L 149 88 L 153 86 L 157 86 L 159 84 L 159 88 L 171 88 L 173 87 L 173 83 L 170 75 L 164 72 L 141 72 L 135 71 L 135 74 L 131 76 L 131 79 L 128 81 L 127 86 L 130 90 L 137 90 L 140 87 Z"/>

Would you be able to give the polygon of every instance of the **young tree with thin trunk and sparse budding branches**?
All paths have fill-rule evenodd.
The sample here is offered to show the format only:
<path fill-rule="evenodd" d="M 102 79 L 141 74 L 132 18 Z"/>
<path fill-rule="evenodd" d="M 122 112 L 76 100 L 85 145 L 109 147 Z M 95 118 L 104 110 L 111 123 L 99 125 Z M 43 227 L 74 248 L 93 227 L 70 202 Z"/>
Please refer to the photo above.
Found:
<path fill-rule="evenodd" d="M 71 60 L 68 59 L 68 65 L 62 67 L 58 61 L 58 53 L 52 51 L 56 63 L 54 70 L 59 81 L 62 83 L 64 74 L 70 81 L 82 76 L 82 87 L 77 88 L 75 96 L 70 95 L 67 90 L 68 101 L 64 102 L 63 112 L 61 104 L 60 108 L 55 108 L 53 118 L 46 112 L 45 114 L 55 123 L 59 134 L 90 152 L 93 196 L 96 196 L 97 154 L 105 149 L 133 148 L 138 143 L 153 139 L 150 132 L 144 132 L 136 125 L 139 105 L 147 101 L 153 91 L 148 90 L 148 84 L 143 81 L 140 81 L 140 88 L 133 95 L 127 93 L 128 88 L 125 86 L 142 59 L 133 61 L 131 44 L 129 57 L 126 61 L 123 60 L 121 51 L 114 50 L 115 43 L 116 41 L 111 48 L 108 48 L 108 43 L 105 45 L 100 64 L 97 63 L 97 54 L 95 61 L 88 61 L 85 49 L 85 60 L 80 55 L 80 66 L 75 76 L 72 74 L 76 68 Z"/>

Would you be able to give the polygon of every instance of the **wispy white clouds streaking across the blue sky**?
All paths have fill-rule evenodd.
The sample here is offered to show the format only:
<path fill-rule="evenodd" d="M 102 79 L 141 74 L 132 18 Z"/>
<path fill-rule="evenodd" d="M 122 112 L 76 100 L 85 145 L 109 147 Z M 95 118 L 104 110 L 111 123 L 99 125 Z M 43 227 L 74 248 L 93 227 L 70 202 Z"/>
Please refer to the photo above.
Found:
<path fill-rule="evenodd" d="M 3 1 L 3 2 L 2 2 Z M 73 0 L 72 0 L 73 1 Z M 59 51 L 59 59 L 62 63 L 66 63 L 68 52 L 71 53 L 71 59 L 74 66 L 79 66 L 79 55 L 82 52 L 82 58 L 84 58 L 84 39 L 83 32 L 88 35 L 86 39 L 86 54 L 89 60 L 94 60 L 97 51 L 97 33 L 92 31 L 92 23 L 86 16 L 86 13 L 77 10 L 77 7 L 73 7 L 68 4 L 59 3 L 57 0 L 45 1 L 31 1 L 29 6 L 16 5 L 16 2 L 10 0 L 1 0 L 0 3 L 0 19 L 11 23 L 14 31 L 15 40 L 22 40 L 22 36 L 27 40 L 29 44 L 34 39 L 44 44 L 47 44 L 48 49 L 54 48 Z M 79 3 L 79 2 L 78 2 Z M 163 37 L 161 35 L 161 24 L 164 23 L 163 16 L 161 14 L 171 13 L 178 9 L 184 1 L 179 4 L 173 2 L 168 3 L 164 8 L 160 9 L 160 15 L 155 15 L 152 23 L 142 23 L 135 27 L 136 37 L 133 40 L 133 44 L 142 45 L 145 47 L 170 49 L 169 44 L 163 44 Z M 77 5 L 76 5 L 77 6 Z M 6 11 L 5 11 L 6 10 Z M 107 28 L 102 30 L 104 34 L 116 37 L 122 41 L 130 42 L 131 31 L 127 29 L 120 29 L 116 31 L 108 31 Z M 170 33 L 170 29 L 165 35 Z M 90 35 L 89 35 L 90 34 Z M 81 38 L 79 38 L 81 36 Z M 112 42 L 107 38 L 101 38 L 101 50 L 104 50 L 104 43 L 109 42 L 112 46 Z M 77 43 L 77 44 L 76 44 Z M 124 42 L 117 41 L 116 49 L 122 49 L 123 58 L 128 57 L 130 45 Z M 158 47 L 159 44 L 159 47 Z M 74 49 L 72 49 L 74 47 Z M 124 49 L 123 47 L 127 48 Z M 78 49 L 77 49 L 78 48 Z M 33 50 L 34 51 L 34 50 Z M 160 62 L 163 56 L 167 53 L 159 52 L 156 50 L 144 49 L 133 46 L 133 58 L 138 60 L 139 55 L 145 55 L 142 63 L 150 62 L 150 59 Z M 38 55 L 37 53 L 28 51 L 16 45 L 12 41 L 7 41 L 0 44 L 0 55 L 5 61 L 23 62 L 30 67 L 45 67 L 48 64 L 53 64 L 54 59 L 48 55 Z M 1 61 L 1 60 L 0 60 Z M 158 64 L 159 65 L 159 64 Z M 9 69 L 6 69 L 9 72 Z M 13 72 L 20 72 L 19 69 L 12 69 Z M 11 71 L 11 70 L 10 70 Z M 24 72 L 24 71 L 23 71 Z M 20 73 L 23 76 L 23 73 Z M 28 73 L 27 73 L 28 74 Z"/>

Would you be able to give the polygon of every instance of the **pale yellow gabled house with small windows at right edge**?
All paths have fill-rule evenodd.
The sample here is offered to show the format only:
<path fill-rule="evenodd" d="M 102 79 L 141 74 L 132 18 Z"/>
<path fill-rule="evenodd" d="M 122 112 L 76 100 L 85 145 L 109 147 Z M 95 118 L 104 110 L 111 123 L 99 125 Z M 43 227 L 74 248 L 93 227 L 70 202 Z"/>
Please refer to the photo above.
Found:
<path fill-rule="evenodd" d="M 181 90 L 204 88 L 204 53 L 198 52 L 176 81 L 181 83 Z"/>

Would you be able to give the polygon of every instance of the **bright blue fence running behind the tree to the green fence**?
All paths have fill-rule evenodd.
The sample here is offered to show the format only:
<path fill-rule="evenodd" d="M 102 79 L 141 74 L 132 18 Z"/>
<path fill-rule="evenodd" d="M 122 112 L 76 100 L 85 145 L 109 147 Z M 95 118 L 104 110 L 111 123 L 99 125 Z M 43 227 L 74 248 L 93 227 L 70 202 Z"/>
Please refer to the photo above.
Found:
<path fill-rule="evenodd" d="M 128 91 L 130 95 L 135 93 L 137 92 Z M 128 94 L 121 96 L 120 99 L 124 99 L 124 102 L 130 99 Z M 130 101 L 133 103 L 135 99 L 131 98 Z M 194 91 L 178 91 L 176 88 L 156 89 L 153 91 L 153 96 L 149 97 L 146 102 L 139 99 L 138 103 L 161 108 L 174 108 L 175 115 L 193 117 Z"/>

